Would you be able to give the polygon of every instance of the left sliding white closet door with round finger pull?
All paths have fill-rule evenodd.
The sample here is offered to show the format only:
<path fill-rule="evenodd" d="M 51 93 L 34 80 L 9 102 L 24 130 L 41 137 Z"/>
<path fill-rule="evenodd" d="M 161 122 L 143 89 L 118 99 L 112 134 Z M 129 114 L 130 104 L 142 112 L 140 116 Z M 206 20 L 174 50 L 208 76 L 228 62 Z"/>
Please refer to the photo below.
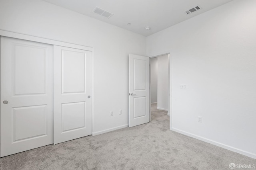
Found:
<path fill-rule="evenodd" d="M 1 157 L 53 143 L 53 46 L 1 37 Z"/>

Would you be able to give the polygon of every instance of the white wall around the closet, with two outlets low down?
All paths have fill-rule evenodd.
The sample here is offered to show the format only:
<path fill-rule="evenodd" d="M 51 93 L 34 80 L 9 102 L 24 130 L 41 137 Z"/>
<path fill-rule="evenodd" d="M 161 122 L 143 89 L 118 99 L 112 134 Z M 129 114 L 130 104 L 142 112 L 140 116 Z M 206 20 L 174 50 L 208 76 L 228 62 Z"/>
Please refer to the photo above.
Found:
<path fill-rule="evenodd" d="M 0 0 L 0 29 L 93 47 L 93 132 L 129 123 L 128 55 L 146 55 L 146 37 L 41 0 Z"/>

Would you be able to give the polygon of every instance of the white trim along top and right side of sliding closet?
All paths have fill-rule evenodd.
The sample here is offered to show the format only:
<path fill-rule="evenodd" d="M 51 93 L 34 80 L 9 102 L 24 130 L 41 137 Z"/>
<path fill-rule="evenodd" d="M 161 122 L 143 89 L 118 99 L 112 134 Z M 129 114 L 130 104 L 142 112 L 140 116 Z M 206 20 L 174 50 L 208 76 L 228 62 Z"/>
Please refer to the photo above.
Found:
<path fill-rule="evenodd" d="M 45 43 L 50 45 L 70 47 L 74 49 L 81 49 L 81 50 L 92 52 L 92 132 L 93 132 L 94 131 L 94 51 L 93 51 L 93 47 L 88 47 L 88 46 L 74 44 L 74 43 L 68 43 L 64 41 L 58 41 L 54 39 L 47 39 L 43 37 L 32 36 L 32 35 L 27 35 L 27 34 L 22 34 L 17 32 L 5 31 L 2 29 L 0 29 L 0 36 L 23 39 L 23 40 L 34 41 L 38 43 Z"/>

